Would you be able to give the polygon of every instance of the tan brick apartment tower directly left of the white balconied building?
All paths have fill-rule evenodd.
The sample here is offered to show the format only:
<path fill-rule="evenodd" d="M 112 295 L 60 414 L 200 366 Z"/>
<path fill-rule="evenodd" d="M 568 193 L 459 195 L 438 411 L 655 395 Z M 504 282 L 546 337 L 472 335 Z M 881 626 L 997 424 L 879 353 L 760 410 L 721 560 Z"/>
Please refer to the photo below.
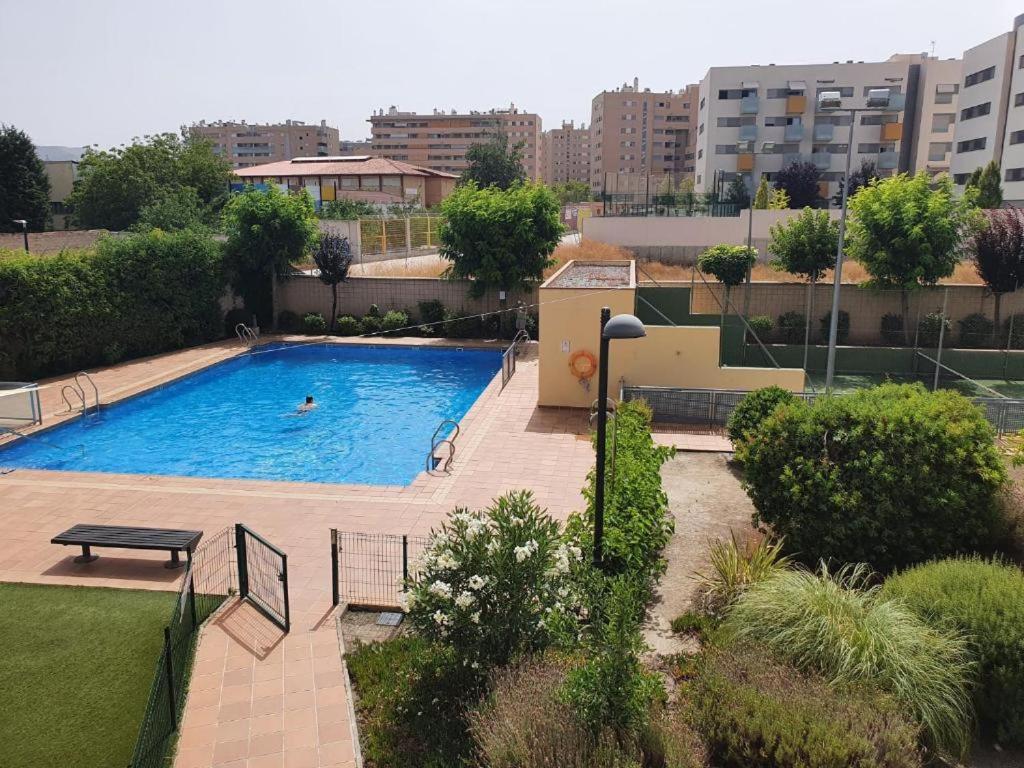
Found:
<path fill-rule="evenodd" d="M 601 91 L 591 102 L 591 189 L 632 187 L 631 180 L 690 176 L 694 171 L 696 85 L 640 90 L 640 81 Z"/>

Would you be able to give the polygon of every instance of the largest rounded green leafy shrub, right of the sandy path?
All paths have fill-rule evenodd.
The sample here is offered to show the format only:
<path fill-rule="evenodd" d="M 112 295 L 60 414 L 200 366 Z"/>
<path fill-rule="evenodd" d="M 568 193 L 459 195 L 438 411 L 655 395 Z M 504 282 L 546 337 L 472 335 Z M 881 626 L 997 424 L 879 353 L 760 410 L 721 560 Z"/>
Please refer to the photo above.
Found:
<path fill-rule="evenodd" d="M 966 397 L 883 384 L 776 410 L 736 450 L 755 522 L 805 562 L 882 572 L 984 551 L 1006 479 L 992 427 Z"/>

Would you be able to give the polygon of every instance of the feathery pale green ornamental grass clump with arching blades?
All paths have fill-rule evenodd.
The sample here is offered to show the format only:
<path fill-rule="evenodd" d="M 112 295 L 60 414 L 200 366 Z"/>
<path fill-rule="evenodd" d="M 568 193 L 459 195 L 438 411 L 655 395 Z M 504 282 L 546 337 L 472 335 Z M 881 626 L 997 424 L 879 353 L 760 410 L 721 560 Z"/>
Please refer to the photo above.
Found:
<path fill-rule="evenodd" d="M 971 741 L 968 647 L 898 600 L 867 587 L 870 572 L 784 570 L 752 585 L 723 625 L 724 637 L 775 654 L 834 685 L 890 693 L 923 729 L 926 743 L 963 757 Z"/>

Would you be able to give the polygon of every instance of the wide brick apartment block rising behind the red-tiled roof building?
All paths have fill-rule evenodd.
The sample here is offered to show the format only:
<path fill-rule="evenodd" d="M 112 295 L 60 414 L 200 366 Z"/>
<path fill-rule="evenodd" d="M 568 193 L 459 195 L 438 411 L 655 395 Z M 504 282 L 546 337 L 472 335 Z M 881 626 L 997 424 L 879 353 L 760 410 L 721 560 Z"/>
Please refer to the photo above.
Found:
<path fill-rule="evenodd" d="M 541 177 L 541 117 L 523 112 L 514 103 L 485 112 L 435 109 L 429 115 L 400 112 L 392 105 L 387 112 L 375 112 L 370 127 L 372 157 L 455 174 L 466 170 L 466 151 L 470 146 L 490 140 L 496 133 L 504 133 L 511 143 L 522 142 L 526 177 L 535 181 Z"/>

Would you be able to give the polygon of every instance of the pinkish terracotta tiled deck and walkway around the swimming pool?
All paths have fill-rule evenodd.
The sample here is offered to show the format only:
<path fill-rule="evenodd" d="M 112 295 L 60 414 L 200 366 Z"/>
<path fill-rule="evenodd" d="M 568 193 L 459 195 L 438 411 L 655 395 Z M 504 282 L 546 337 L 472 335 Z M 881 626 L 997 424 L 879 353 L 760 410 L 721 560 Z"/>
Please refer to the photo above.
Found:
<path fill-rule="evenodd" d="M 238 343 L 211 344 L 93 378 L 101 401 L 113 402 L 239 352 Z M 452 473 L 420 475 L 407 487 L 41 470 L 0 475 L 0 581 L 175 589 L 178 574 L 160 567 L 165 553 L 98 550 L 99 560 L 76 565 L 77 550 L 50 538 L 78 522 L 209 532 L 246 523 L 288 553 L 292 632 L 283 636 L 244 605 L 206 627 L 175 766 L 354 765 L 331 606 L 330 528 L 426 534 L 455 506 L 483 506 L 523 487 L 558 518 L 579 509 L 594 460 L 586 419 L 539 409 L 537 360 L 527 354 L 517 368 L 505 391 L 496 377 L 462 420 Z M 47 425 L 60 418 L 65 383 L 45 383 Z"/>

